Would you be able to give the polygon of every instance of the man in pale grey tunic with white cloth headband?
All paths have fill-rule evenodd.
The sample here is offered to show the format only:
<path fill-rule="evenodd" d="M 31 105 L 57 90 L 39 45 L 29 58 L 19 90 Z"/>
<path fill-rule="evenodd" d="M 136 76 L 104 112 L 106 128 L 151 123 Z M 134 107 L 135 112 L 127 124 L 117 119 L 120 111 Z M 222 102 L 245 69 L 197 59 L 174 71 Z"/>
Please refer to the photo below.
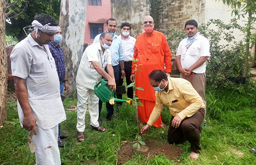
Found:
<path fill-rule="evenodd" d="M 36 164 L 60 165 L 58 124 L 66 115 L 55 62 L 47 45 L 58 32 L 57 22 L 50 15 L 39 14 L 32 26 L 34 31 L 16 44 L 10 56 L 19 120 L 30 135 L 34 134 Z"/>

